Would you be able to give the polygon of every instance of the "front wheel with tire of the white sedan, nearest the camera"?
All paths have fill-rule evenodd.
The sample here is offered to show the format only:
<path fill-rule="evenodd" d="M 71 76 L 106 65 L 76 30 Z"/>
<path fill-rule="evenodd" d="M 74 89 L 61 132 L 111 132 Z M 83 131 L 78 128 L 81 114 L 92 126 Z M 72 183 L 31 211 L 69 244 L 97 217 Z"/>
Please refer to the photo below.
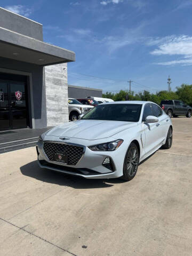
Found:
<path fill-rule="evenodd" d="M 139 150 L 135 143 L 131 143 L 125 155 L 123 164 L 123 180 L 132 180 L 138 170 Z"/>

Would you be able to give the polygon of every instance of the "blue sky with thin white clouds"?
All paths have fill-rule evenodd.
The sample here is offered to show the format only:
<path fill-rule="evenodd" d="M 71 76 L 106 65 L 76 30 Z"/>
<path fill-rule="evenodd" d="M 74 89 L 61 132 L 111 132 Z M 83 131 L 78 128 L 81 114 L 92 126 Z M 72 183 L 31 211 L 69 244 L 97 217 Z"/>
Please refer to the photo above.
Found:
<path fill-rule="evenodd" d="M 1 0 L 43 24 L 44 41 L 76 53 L 68 84 L 117 92 L 192 84 L 192 0 Z"/>

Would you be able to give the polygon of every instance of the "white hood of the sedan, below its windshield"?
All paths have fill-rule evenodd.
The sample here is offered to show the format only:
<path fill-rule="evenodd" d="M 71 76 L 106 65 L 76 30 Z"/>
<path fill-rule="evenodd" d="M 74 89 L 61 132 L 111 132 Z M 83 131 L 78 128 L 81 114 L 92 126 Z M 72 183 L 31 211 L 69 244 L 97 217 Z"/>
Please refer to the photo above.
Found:
<path fill-rule="evenodd" d="M 137 123 L 102 120 L 77 120 L 54 127 L 46 136 L 68 137 L 85 140 L 98 140 L 112 137 L 126 129 L 137 126 Z"/>

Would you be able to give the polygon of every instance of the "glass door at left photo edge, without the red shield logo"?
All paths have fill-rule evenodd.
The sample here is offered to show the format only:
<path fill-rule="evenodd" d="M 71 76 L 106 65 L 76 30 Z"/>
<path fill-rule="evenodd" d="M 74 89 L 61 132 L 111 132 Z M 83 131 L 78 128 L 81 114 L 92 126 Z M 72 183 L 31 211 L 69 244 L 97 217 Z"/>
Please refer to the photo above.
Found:
<path fill-rule="evenodd" d="M 0 130 L 10 128 L 8 83 L 0 81 Z"/>

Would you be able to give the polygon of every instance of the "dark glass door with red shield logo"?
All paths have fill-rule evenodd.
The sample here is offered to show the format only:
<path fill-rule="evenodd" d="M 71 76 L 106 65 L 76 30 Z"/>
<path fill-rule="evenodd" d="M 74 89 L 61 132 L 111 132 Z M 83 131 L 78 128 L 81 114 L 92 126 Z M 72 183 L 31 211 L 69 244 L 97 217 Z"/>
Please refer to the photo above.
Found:
<path fill-rule="evenodd" d="M 10 117 L 12 128 L 27 127 L 25 83 L 9 82 Z"/>

